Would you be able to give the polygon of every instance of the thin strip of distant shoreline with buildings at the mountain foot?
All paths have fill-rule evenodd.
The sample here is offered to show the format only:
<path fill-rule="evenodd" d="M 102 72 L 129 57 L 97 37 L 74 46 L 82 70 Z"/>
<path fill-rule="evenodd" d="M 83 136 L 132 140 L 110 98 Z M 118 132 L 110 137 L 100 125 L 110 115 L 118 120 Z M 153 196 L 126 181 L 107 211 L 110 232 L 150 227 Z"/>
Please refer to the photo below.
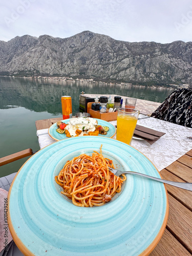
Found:
<path fill-rule="evenodd" d="M 25 78 L 25 79 L 42 79 L 42 80 L 57 80 L 57 81 L 74 81 L 74 82 L 87 82 L 87 83 L 102 83 L 109 84 L 110 86 L 138 86 L 138 87 L 150 87 L 158 89 L 181 89 L 189 88 L 189 84 L 167 84 L 167 85 L 147 85 L 147 84 L 133 84 L 131 82 L 118 82 L 118 81 L 101 81 L 100 79 L 93 78 L 72 78 L 68 76 L 0 76 L 0 77 L 10 77 L 10 78 Z M 107 80 L 107 79 L 103 79 Z M 142 82 L 140 82 L 142 83 Z M 147 83 L 147 82 L 146 82 Z"/>

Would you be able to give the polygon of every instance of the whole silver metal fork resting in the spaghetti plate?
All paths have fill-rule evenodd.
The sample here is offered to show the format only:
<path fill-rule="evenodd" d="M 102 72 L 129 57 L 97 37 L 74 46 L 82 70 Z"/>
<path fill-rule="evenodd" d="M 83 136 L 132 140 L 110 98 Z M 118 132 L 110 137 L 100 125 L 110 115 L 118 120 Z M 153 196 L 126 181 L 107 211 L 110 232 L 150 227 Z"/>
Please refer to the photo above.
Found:
<path fill-rule="evenodd" d="M 169 184 L 169 185 L 172 185 L 172 186 L 175 186 L 175 187 L 180 187 L 180 188 L 192 191 L 192 183 L 162 180 L 162 179 L 159 179 L 159 178 L 156 178 L 156 177 L 148 176 L 146 174 L 141 174 L 141 173 L 131 172 L 131 171 L 124 172 L 122 170 L 113 169 L 111 167 L 109 167 L 109 170 L 111 170 L 111 172 L 114 173 L 116 176 L 120 176 L 122 174 L 134 174 L 134 175 L 139 175 L 139 176 L 142 176 L 142 177 L 145 177 L 145 178 L 148 178 L 148 179 L 156 180 L 156 181 L 159 181 L 159 182 L 162 182 L 162 183 L 165 183 L 165 184 Z"/>

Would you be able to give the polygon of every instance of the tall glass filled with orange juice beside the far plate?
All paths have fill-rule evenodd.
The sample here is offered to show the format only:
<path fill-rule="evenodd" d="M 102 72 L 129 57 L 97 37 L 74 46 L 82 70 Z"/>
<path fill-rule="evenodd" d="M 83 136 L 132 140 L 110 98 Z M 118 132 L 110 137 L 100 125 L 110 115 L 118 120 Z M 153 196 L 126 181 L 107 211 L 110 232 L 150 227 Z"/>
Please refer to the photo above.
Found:
<path fill-rule="evenodd" d="M 135 109 L 119 109 L 117 114 L 116 139 L 126 144 L 131 144 L 137 124 L 139 111 Z"/>

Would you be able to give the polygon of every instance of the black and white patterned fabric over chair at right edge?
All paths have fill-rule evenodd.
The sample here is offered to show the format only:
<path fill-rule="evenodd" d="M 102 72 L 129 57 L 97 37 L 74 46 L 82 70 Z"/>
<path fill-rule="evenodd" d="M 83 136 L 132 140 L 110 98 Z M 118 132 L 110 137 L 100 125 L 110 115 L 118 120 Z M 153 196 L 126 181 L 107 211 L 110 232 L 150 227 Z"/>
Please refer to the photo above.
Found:
<path fill-rule="evenodd" d="M 174 91 L 151 116 L 192 128 L 192 89 Z"/>

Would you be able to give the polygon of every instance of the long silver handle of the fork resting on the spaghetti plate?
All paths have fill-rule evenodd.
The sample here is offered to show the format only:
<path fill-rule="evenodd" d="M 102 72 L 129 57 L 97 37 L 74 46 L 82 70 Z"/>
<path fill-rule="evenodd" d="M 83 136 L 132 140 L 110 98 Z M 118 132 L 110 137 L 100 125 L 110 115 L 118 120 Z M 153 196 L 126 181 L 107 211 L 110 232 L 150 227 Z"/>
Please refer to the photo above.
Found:
<path fill-rule="evenodd" d="M 166 183 L 175 187 L 180 187 L 189 191 L 192 191 L 192 183 L 188 183 L 188 182 L 175 182 L 175 181 L 169 181 L 169 180 L 162 180 L 156 177 L 152 177 L 152 176 L 148 176 L 146 174 L 141 174 L 141 173 L 137 173 L 137 172 L 123 172 L 124 174 L 135 174 L 135 175 L 139 175 L 148 179 L 152 179 L 152 180 L 156 180 L 162 183 Z"/>

